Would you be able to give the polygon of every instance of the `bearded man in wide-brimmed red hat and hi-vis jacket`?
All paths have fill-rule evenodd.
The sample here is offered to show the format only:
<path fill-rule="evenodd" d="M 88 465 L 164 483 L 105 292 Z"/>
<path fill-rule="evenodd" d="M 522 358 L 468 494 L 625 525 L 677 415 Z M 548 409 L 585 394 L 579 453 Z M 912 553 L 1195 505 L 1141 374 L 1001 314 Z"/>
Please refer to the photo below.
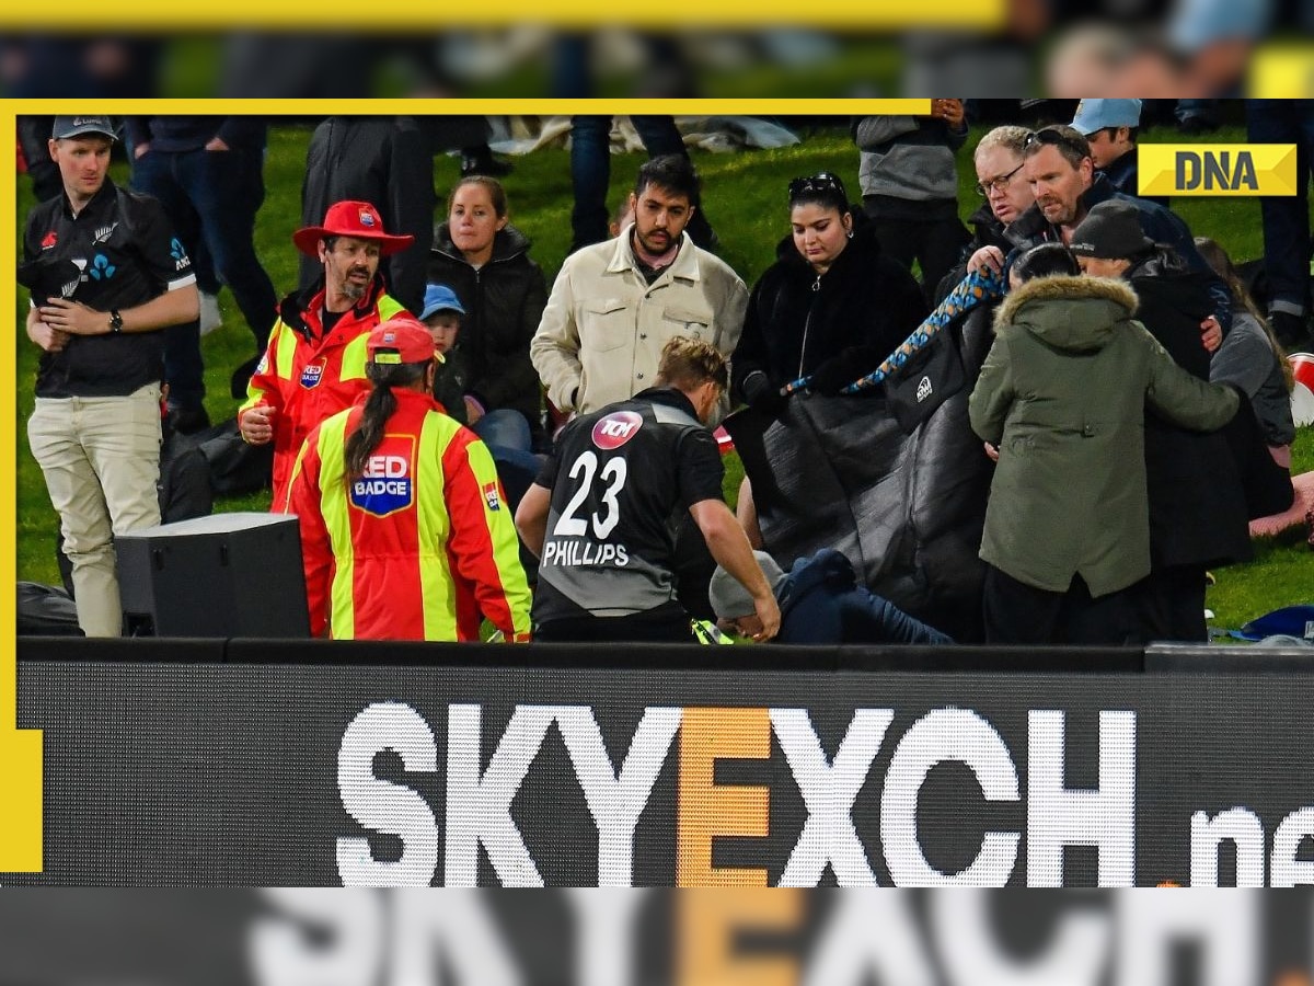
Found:
<path fill-rule="evenodd" d="M 369 202 L 340 201 L 328 206 L 322 226 L 297 230 L 292 242 L 319 259 L 323 276 L 279 305 L 269 346 L 238 411 L 248 444 L 273 442 L 275 511 L 285 509 L 292 465 L 310 430 L 369 389 L 369 331 L 405 310 L 384 291 L 378 259 L 413 239 L 385 233 Z"/>

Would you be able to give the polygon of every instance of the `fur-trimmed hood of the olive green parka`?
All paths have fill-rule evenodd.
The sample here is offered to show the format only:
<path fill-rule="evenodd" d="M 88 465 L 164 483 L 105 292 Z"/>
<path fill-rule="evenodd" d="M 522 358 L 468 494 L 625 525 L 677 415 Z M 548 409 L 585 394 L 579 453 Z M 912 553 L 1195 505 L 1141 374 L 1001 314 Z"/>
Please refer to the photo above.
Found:
<path fill-rule="evenodd" d="M 1037 277 L 1004 298 L 995 331 L 1012 326 L 1062 350 L 1101 350 L 1138 304 L 1131 287 L 1113 277 Z"/>

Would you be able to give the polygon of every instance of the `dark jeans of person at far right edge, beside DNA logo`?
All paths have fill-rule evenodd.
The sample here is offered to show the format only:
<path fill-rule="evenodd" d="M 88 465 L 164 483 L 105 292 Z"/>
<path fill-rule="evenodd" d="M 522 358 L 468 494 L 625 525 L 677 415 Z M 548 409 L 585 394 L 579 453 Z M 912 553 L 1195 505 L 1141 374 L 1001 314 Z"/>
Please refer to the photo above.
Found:
<path fill-rule="evenodd" d="M 1310 309 L 1309 184 L 1314 164 L 1314 106 L 1309 100 L 1246 100 L 1252 143 L 1296 145 L 1294 197 L 1261 196 L 1264 270 L 1272 288 L 1269 310 L 1303 316 Z"/>

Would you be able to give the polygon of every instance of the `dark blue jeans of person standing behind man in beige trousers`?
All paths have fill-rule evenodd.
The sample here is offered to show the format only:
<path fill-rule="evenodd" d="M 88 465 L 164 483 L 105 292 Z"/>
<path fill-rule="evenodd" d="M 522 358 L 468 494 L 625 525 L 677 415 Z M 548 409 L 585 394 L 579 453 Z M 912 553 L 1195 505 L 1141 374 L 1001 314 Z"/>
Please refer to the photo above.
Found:
<path fill-rule="evenodd" d="M 255 214 L 264 202 L 261 167 L 261 153 L 246 149 L 150 150 L 133 162 L 133 187 L 160 200 L 189 252 L 209 255 L 260 351 L 269 342 L 279 304 L 254 243 Z M 200 322 L 167 331 L 164 380 L 170 404 L 198 408 L 205 396 Z"/>

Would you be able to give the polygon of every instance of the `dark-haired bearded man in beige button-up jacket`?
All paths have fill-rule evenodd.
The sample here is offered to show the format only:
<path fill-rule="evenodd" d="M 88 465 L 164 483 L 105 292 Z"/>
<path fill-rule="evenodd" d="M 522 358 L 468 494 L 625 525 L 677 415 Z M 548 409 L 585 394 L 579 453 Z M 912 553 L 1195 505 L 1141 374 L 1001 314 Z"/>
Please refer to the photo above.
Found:
<path fill-rule="evenodd" d="M 748 289 L 685 233 L 698 197 L 689 159 L 653 158 L 629 196 L 632 223 L 566 258 L 530 346 L 560 410 L 586 414 L 652 387 L 673 337 L 703 339 L 727 358 L 735 351 Z M 725 410 L 723 398 L 714 423 Z"/>

